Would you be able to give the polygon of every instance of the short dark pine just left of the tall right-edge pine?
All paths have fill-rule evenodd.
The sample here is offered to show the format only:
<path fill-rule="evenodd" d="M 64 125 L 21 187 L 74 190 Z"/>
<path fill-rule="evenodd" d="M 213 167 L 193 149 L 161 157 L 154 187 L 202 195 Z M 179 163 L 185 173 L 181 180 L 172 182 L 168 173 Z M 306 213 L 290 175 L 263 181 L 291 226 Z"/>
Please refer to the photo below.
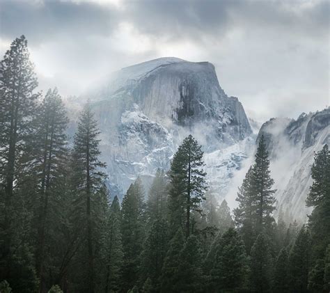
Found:
<path fill-rule="evenodd" d="M 290 290 L 307 292 L 310 262 L 310 235 L 303 226 L 297 236 L 289 256 Z"/>

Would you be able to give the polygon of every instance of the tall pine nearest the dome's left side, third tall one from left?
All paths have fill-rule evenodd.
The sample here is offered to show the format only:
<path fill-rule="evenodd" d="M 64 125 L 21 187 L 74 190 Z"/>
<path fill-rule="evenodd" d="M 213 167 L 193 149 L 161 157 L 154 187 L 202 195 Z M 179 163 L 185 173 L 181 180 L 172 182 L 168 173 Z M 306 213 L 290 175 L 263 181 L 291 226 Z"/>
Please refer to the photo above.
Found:
<path fill-rule="evenodd" d="M 86 104 L 79 117 L 78 129 L 74 135 L 74 147 L 72 152 L 72 182 L 74 191 L 77 193 L 77 213 L 78 218 L 83 223 L 84 239 L 86 239 L 87 253 L 87 280 L 86 288 L 88 292 L 94 292 L 95 287 L 95 248 L 93 242 L 93 207 L 94 197 L 102 188 L 102 183 L 106 175 L 100 171 L 105 164 L 98 157 L 100 155 L 100 140 L 97 136 L 100 131 L 97 129 L 97 121 L 94 118 L 91 106 Z"/>

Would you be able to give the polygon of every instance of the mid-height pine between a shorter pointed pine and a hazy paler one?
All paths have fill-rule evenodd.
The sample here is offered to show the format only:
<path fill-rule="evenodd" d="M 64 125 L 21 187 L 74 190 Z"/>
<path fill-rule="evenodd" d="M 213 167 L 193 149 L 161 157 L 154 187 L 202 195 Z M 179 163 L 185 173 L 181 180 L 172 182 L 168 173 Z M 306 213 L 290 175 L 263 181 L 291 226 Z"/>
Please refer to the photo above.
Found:
<path fill-rule="evenodd" d="M 145 237 L 145 203 L 141 180 L 131 184 L 122 203 L 121 234 L 123 243 L 123 289 L 136 285 L 139 275 L 139 255 L 143 249 Z"/>

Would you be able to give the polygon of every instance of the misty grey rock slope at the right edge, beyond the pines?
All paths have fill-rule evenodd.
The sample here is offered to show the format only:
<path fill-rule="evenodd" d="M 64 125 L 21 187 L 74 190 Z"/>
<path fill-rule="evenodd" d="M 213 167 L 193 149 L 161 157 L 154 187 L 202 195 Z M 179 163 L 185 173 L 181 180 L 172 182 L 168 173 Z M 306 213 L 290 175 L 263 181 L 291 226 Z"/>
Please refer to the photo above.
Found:
<path fill-rule="evenodd" d="M 261 134 L 269 145 L 272 176 L 278 189 L 277 212 L 282 210 L 288 222 L 306 221 L 311 213 L 305 200 L 313 183 L 314 152 L 330 144 L 330 109 L 302 113 L 297 120 L 271 119 L 262 125 L 258 138 Z"/>

